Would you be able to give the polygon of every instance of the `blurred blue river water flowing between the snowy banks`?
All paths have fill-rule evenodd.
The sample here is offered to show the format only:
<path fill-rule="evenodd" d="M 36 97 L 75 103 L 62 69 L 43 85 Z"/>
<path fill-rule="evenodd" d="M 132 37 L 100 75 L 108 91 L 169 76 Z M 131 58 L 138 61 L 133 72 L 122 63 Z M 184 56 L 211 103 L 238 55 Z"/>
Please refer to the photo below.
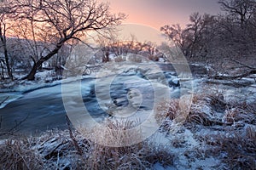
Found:
<path fill-rule="evenodd" d="M 108 110 L 111 108 L 127 107 L 131 104 L 136 105 L 135 107 L 141 111 L 149 111 L 153 109 L 155 93 L 152 81 L 148 81 L 148 77 L 158 83 L 157 87 L 161 89 L 167 86 L 171 92 L 170 95 L 175 94 L 173 96 L 178 97 L 178 83 L 177 81 L 173 81 L 177 79 L 176 73 L 173 70 L 168 70 L 166 65 L 161 66 L 161 68 L 161 74 L 163 74 L 165 78 L 159 78 L 160 73 L 157 72 L 152 72 L 152 74 L 150 73 L 145 77 L 143 75 L 145 74 L 143 69 L 131 67 L 122 71 L 119 76 L 115 76 L 110 85 L 108 85 L 108 88 L 101 87 L 104 85 L 101 84 L 101 82 L 104 82 L 106 77 L 90 77 L 84 78 L 81 81 L 67 82 L 66 87 L 70 87 L 68 89 L 70 91 L 68 95 L 72 96 L 73 87 L 76 87 L 78 83 L 81 84 L 80 90 L 84 107 L 90 113 L 90 116 L 98 120 L 110 116 Z M 96 87 L 96 83 L 100 85 Z M 59 84 L 53 87 L 40 88 L 26 92 L 22 94 L 22 97 L 19 99 L 16 99 L 0 109 L 0 132 L 8 132 L 13 127 L 16 127 L 16 125 L 18 125 L 16 127 L 17 132 L 26 134 L 39 133 L 52 128 L 67 128 L 66 110 L 62 100 L 62 88 L 63 86 Z M 109 89 L 109 92 L 106 89 Z M 96 93 L 98 93 L 97 97 Z M 110 96 L 111 101 L 109 101 L 109 99 L 102 99 L 107 95 L 104 93 Z M 165 92 L 163 91 L 163 93 Z M 133 94 L 138 94 L 143 97 L 139 97 L 139 101 L 136 101 L 138 97 L 133 96 L 135 102 L 132 103 L 130 100 L 132 96 L 129 95 Z M 65 95 L 67 95 L 67 93 Z M 100 98 L 100 100 L 97 98 Z M 71 101 L 70 105 L 73 105 L 72 103 L 74 102 L 75 101 Z"/>

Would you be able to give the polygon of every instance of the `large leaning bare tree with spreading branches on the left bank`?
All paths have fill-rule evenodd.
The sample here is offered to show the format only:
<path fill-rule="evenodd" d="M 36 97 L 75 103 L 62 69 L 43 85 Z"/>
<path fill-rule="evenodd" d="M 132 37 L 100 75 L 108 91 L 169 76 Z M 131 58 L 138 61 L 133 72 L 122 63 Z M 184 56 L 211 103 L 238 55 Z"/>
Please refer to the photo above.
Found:
<path fill-rule="evenodd" d="M 88 31 L 101 31 L 125 19 L 125 14 L 110 14 L 108 3 L 95 0 L 14 1 L 17 10 L 15 21 L 19 23 L 16 31 L 33 40 L 34 64 L 26 77 L 28 80 L 34 80 L 38 68 L 68 41 L 80 41 Z M 43 42 L 44 45 L 39 44 Z"/>

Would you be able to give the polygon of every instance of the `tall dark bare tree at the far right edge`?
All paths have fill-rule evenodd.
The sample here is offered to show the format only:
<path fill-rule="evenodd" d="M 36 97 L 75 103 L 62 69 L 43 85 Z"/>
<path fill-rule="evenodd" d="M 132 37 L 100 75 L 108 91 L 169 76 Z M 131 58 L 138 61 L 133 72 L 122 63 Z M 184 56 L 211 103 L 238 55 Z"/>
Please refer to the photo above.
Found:
<path fill-rule="evenodd" d="M 231 69 L 240 68 L 239 75 L 235 77 L 244 77 L 255 71 L 256 1 L 221 0 L 218 3 L 225 12 L 218 19 L 218 46 L 226 49 L 224 64 L 232 65 Z"/>

